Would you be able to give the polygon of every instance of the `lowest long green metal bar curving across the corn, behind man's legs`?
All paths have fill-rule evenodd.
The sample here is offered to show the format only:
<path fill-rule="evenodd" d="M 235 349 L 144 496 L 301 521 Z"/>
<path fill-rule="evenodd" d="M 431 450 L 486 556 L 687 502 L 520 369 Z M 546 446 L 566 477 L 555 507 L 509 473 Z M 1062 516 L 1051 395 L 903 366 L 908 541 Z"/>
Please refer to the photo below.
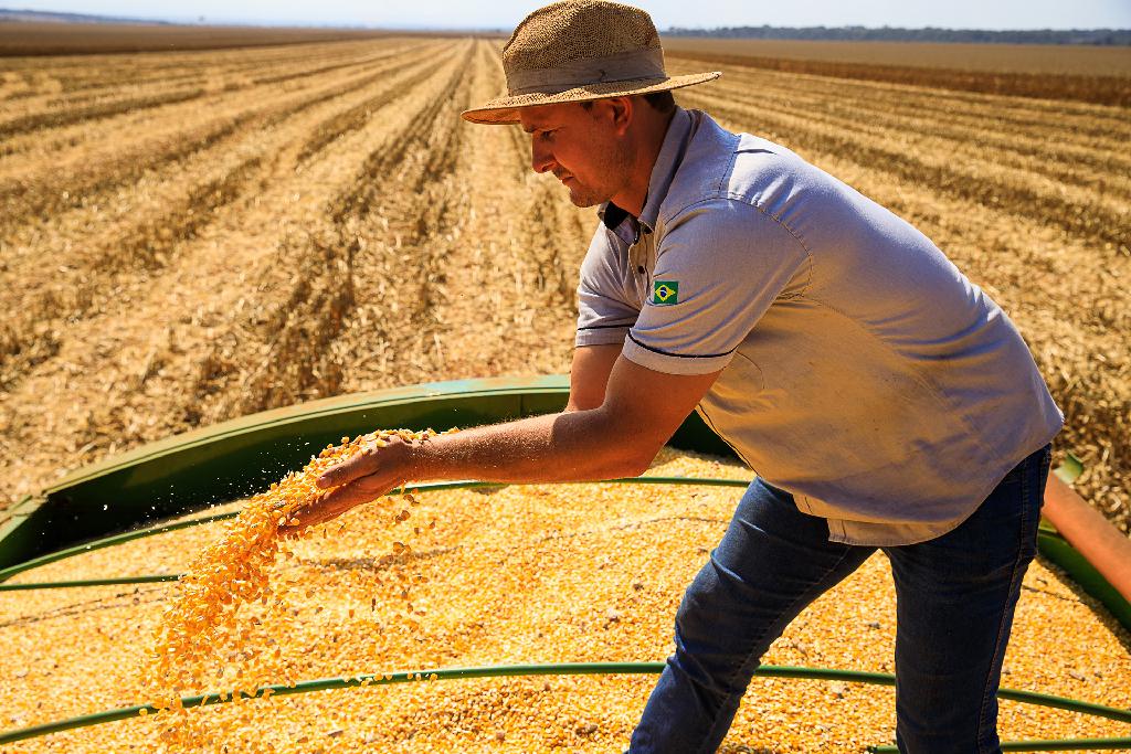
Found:
<path fill-rule="evenodd" d="M 560 662 L 551 665 L 495 665 L 470 668 L 435 668 L 423 670 L 407 670 L 397 673 L 366 673 L 354 676 L 338 676 L 333 678 L 319 678 L 316 681 L 304 681 L 294 685 L 275 684 L 261 686 L 252 694 L 201 694 L 198 696 L 183 696 L 181 704 L 185 708 L 206 707 L 211 704 L 224 704 L 241 699 L 257 699 L 262 696 L 287 696 L 291 694 L 305 694 L 316 691 L 329 691 L 336 688 L 360 688 L 370 685 L 388 685 L 395 683 L 414 683 L 428 681 L 454 681 L 461 678 L 499 678 L 512 676 L 566 676 L 566 675 L 655 675 L 664 669 L 664 662 Z M 896 677 L 889 673 L 867 673 L 863 670 L 840 670 L 836 668 L 811 668 L 787 665 L 763 665 L 754 675 L 772 678 L 804 678 L 810 681 L 841 681 L 848 683 L 873 684 L 881 686 L 893 686 Z M 1038 707 L 1052 707 L 1083 714 L 1131 722 L 1131 710 L 1121 710 L 1103 704 L 1080 702 L 1072 699 L 1052 696 L 1048 694 L 1037 694 L 1033 692 L 1002 688 L 998 692 L 999 699 L 1007 699 Z M 94 714 L 84 714 L 55 722 L 48 722 L 29 728 L 8 730 L 0 733 L 0 744 L 11 744 L 17 740 L 38 738 L 50 734 L 74 730 L 76 728 L 87 728 L 115 720 L 124 720 L 145 713 L 156 713 L 159 710 L 150 704 L 139 704 L 126 707 Z M 1056 751 L 1068 748 L 1108 748 L 1107 746 L 1091 746 L 1091 740 L 1099 742 L 1122 742 L 1123 745 L 1131 743 L 1131 738 L 1110 739 L 1072 739 L 1065 742 L 1050 742 L 1051 744 L 1065 745 Z M 1026 742 L 1010 742 L 1026 743 Z M 1076 746 L 1074 744 L 1080 744 Z M 1068 746 L 1072 744 L 1073 746 Z M 1004 748 L 1004 745 L 1003 745 Z M 1114 746 L 1112 746 L 1114 748 Z M 884 747 L 877 747 L 872 751 L 891 751 Z M 1051 751 L 1051 749 L 1024 749 L 1011 748 L 1010 751 Z"/>

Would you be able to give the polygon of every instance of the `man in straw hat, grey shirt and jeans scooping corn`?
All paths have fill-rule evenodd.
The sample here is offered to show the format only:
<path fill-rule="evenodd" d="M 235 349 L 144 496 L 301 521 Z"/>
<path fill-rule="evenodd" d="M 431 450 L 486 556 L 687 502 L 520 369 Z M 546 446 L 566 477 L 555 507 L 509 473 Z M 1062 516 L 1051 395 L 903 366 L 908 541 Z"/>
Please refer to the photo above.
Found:
<path fill-rule="evenodd" d="M 877 548 L 897 740 L 994 752 L 995 692 L 1062 416 L 1017 330 L 923 234 L 776 144 L 675 107 L 655 27 L 567 0 L 503 51 L 532 167 L 601 205 L 566 410 L 327 473 L 327 520 L 406 480 L 644 471 L 696 409 L 758 474 L 688 589 L 631 751 L 713 752 L 759 658 Z M 752 97 L 757 93 L 751 93 Z"/>

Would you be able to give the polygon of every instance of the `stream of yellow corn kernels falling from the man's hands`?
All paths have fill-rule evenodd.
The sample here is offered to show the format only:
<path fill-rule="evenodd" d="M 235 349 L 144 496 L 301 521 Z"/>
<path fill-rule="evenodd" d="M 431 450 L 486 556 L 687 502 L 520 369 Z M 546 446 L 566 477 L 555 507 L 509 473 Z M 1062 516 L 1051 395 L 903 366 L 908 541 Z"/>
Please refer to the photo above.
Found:
<path fill-rule="evenodd" d="M 288 540 L 279 536 L 280 527 L 295 523 L 291 518 L 295 511 L 316 503 L 331 491 L 316 484 L 330 467 L 368 448 L 383 448 L 392 437 L 423 442 L 434 435 L 431 430 L 398 430 L 359 435 L 352 441 L 343 437 L 342 444 L 328 445 L 311 458 L 302 471 L 288 474 L 266 492 L 248 500 L 222 536 L 200 551 L 179 580 L 154 632 L 153 651 L 143 664 L 141 675 L 149 693 L 147 701 L 159 710 L 183 713 L 182 695 L 211 692 L 223 699 L 234 695 L 239 700 L 241 693 L 254 695 L 259 686 L 277 683 L 280 678 L 293 684 L 295 678 L 283 658 L 283 648 L 276 639 L 258 630 L 264 625 L 264 617 L 247 615 L 243 610 L 245 619 L 241 619 L 241 608 L 256 601 L 276 617 L 299 614 L 290 599 L 291 590 L 299 587 L 299 582 L 271 578 L 279 558 L 285 561 L 294 556 Z M 387 496 L 373 504 L 387 509 L 392 500 Z M 400 500 L 403 505 L 394 513 L 394 523 L 408 520 L 412 515 L 408 506 L 416 504 L 411 494 L 403 494 Z M 420 532 L 420 527 L 415 527 L 415 532 Z M 408 552 L 408 545 L 394 540 L 390 554 L 378 563 Z M 407 603 L 407 616 L 403 613 L 395 616 L 415 625 L 415 616 L 423 612 L 414 609 L 408 601 L 408 584 L 399 584 L 397 592 Z M 307 589 L 305 596 L 312 597 L 313 590 Z M 165 725 L 166 744 L 182 747 L 199 744 L 193 730 L 196 726 L 190 720 L 192 718 L 181 717 Z"/>

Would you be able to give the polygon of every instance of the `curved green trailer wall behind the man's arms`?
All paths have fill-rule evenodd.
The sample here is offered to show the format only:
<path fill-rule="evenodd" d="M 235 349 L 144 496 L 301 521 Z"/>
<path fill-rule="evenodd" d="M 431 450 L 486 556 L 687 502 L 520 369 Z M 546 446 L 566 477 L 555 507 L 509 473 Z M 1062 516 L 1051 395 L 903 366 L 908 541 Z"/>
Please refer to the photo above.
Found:
<path fill-rule="evenodd" d="M 561 410 L 568 397 L 566 375 L 433 382 L 314 400 L 166 437 L 77 469 L 0 514 L 0 569 L 253 494 L 345 435 L 490 424 Z M 694 414 L 670 444 L 734 456 Z M 1048 526 L 1038 547 L 1131 630 L 1131 604 L 1083 555 Z"/>

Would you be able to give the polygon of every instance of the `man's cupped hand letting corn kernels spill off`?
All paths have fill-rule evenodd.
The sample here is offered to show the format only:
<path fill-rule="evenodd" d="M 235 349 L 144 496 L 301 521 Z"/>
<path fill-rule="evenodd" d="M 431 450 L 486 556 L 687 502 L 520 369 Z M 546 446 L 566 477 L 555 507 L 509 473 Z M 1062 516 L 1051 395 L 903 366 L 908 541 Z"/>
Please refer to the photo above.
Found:
<path fill-rule="evenodd" d="M 279 528 L 285 537 L 295 537 L 304 529 L 325 523 L 346 511 L 377 500 L 396 489 L 411 477 L 412 445 L 400 437 L 392 437 L 379 448 L 371 443 L 364 451 L 331 467 L 318 477 L 318 486 L 326 493 L 317 502 L 300 508 L 291 514 L 291 521 Z"/>

